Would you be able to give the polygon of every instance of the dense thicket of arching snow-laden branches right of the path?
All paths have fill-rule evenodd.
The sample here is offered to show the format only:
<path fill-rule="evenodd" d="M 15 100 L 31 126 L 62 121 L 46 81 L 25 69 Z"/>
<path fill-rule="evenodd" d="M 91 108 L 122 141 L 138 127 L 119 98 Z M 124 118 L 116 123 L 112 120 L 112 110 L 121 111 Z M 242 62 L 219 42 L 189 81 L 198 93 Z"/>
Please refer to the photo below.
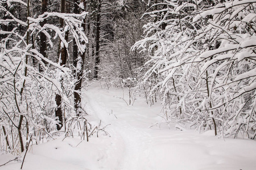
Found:
<path fill-rule="evenodd" d="M 143 83 L 162 96 L 166 122 L 255 139 L 256 1 L 148 5 L 133 49 L 151 57 Z"/>

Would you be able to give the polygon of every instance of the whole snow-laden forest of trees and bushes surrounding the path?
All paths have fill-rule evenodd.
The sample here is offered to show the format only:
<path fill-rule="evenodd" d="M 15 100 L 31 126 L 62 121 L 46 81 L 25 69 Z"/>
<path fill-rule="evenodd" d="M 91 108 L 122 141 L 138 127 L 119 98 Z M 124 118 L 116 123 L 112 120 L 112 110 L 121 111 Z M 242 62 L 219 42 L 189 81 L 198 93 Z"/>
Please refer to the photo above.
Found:
<path fill-rule="evenodd" d="M 160 94 L 165 123 L 255 139 L 256 1 L 42 2 L 0 0 L 0 152 L 100 130 L 82 117 L 89 70 Z"/>

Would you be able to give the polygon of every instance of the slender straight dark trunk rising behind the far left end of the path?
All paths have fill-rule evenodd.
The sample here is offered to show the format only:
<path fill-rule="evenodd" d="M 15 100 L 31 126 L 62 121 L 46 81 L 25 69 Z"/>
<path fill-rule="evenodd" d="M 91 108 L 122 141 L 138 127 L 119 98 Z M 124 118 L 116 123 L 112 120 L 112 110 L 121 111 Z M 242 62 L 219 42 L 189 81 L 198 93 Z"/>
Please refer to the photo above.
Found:
<path fill-rule="evenodd" d="M 100 20 L 101 20 L 101 1 L 98 0 L 97 15 L 96 15 L 96 52 L 95 52 L 95 66 L 94 79 L 98 79 L 98 66 L 100 65 Z"/>

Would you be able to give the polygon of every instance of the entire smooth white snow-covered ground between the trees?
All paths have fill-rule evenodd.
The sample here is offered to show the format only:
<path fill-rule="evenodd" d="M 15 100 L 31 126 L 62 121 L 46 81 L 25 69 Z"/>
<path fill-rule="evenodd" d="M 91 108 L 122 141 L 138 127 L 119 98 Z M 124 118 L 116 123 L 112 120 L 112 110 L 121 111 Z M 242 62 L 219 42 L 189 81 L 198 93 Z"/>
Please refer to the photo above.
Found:
<path fill-rule="evenodd" d="M 256 169 L 256 142 L 247 139 L 222 139 L 213 131 L 175 130 L 175 125 L 152 126 L 160 120 L 161 107 L 152 107 L 137 96 L 127 105 L 128 93 L 122 89 L 102 89 L 94 83 L 84 91 L 89 122 L 98 124 L 109 135 L 96 135 L 89 142 L 79 137 L 64 138 L 32 146 L 23 169 Z M 150 128 L 150 126 L 152 126 Z M 82 142 L 81 142 L 82 141 Z M 81 143 L 80 143 L 81 142 Z M 0 165 L 14 159 L 0 155 Z M 22 157 L 19 158 L 22 160 Z M 20 169 L 21 161 L 0 169 Z"/>

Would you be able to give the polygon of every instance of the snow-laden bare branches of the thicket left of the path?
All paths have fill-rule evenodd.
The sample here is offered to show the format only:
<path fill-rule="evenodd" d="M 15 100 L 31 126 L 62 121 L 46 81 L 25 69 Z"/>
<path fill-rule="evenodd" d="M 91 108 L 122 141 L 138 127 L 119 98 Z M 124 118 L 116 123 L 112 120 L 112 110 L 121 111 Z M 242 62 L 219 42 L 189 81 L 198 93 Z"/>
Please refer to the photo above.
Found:
<path fill-rule="evenodd" d="M 73 65 L 65 67 L 61 55 L 53 57 L 57 54 L 52 49 L 56 48 L 57 39 L 60 48 L 65 47 L 68 53 L 67 31 L 76 42 L 79 53 L 85 52 L 84 44 L 88 42 L 82 29 L 87 12 L 49 11 L 32 17 L 30 5 L 30 1 L 0 2 L 3 16 L 0 19 L 0 149 L 13 154 L 23 152 L 25 142 L 30 139 L 34 144 L 52 139 L 52 135 L 57 134 L 56 125 L 70 133 L 71 125 L 65 126 L 65 118 L 68 123 L 77 116 L 73 93 L 81 91 L 75 89 L 80 80 L 73 76 Z M 13 6 L 27 10 L 19 14 L 12 10 Z M 64 22 L 63 28 L 51 22 L 59 19 Z M 48 22 L 43 23 L 44 20 Z M 46 43 L 44 50 L 40 41 L 42 34 Z M 46 52 L 52 53 L 47 55 L 52 57 L 47 58 Z M 59 106 L 56 95 L 61 97 Z M 64 117 L 64 123 L 55 115 L 57 109 L 62 109 L 60 117 Z M 86 122 L 79 118 L 77 121 Z"/>

